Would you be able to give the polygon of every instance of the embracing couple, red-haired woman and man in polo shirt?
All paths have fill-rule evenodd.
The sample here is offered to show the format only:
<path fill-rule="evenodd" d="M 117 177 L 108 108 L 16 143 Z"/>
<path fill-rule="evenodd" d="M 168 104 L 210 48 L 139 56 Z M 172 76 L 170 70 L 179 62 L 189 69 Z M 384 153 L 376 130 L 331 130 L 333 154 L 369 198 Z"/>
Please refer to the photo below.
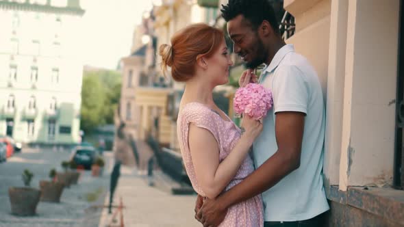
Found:
<path fill-rule="evenodd" d="M 268 0 L 229 0 L 221 11 L 249 68 L 240 87 L 268 88 L 273 108 L 262 120 L 244 115 L 238 128 L 215 105 L 212 90 L 229 81 L 233 64 L 223 31 L 190 25 L 160 46 L 162 68 L 186 84 L 177 135 L 199 194 L 195 218 L 203 226 L 323 226 L 325 106 L 316 71 L 283 42 Z"/>

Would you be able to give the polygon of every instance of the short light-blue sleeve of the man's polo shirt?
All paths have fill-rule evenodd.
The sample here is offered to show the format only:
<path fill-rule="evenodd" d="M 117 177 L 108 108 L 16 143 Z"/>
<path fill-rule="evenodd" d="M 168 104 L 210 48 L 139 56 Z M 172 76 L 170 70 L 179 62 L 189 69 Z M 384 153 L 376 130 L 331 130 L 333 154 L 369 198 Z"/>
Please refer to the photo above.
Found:
<path fill-rule="evenodd" d="M 305 75 L 296 66 L 282 66 L 273 79 L 274 113 L 296 111 L 307 114 L 309 89 Z"/>

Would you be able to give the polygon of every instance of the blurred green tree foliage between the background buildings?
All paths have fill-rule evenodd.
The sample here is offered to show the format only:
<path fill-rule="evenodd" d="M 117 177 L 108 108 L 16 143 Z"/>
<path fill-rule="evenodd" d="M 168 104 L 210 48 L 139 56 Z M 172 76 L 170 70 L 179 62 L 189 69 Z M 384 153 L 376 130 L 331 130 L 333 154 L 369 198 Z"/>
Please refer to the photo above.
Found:
<path fill-rule="evenodd" d="M 113 70 L 84 72 L 81 89 L 81 129 L 114 123 L 114 109 L 121 98 L 121 74 Z"/>

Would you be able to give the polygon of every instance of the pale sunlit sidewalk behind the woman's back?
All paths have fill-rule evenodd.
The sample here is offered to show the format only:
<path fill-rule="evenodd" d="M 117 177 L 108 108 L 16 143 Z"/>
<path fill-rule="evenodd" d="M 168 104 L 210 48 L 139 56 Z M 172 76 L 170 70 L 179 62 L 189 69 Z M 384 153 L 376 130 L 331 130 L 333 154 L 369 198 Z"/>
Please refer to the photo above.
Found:
<path fill-rule="evenodd" d="M 159 187 L 150 187 L 147 176 L 137 174 L 136 168 L 121 166 L 121 177 L 114 195 L 114 204 L 122 197 L 125 227 L 201 226 L 194 219 L 196 196 L 175 196 Z M 105 198 L 108 206 L 109 195 Z M 112 210 L 114 213 L 114 209 Z M 108 226 L 112 215 L 103 209 L 99 227 Z M 117 215 L 119 220 L 119 215 Z M 114 226 L 119 226 L 115 223 Z"/>

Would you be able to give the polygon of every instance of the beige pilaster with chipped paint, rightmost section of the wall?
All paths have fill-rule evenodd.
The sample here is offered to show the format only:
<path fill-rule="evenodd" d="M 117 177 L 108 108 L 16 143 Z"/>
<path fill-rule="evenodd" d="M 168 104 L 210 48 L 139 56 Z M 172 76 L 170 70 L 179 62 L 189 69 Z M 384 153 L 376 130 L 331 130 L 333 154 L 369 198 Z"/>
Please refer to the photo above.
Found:
<path fill-rule="evenodd" d="M 398 0 L 349 1 L 341 189 L 391 184 L 398 37 Z"/>

